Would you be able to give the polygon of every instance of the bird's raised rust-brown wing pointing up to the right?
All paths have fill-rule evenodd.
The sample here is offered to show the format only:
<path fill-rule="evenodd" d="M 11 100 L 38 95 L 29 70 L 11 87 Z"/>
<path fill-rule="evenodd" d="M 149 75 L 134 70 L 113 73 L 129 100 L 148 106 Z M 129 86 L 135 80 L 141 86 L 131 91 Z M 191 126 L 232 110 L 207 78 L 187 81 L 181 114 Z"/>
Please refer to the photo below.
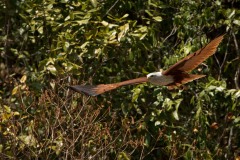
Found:
<path fill-rule="evenodd" d="M 190 72 L 191 70 L 195 69 L 199 64 L 216 52 L 219 43 L 223 39 L 223 36 L 224 35 L 221 35 L 215 38 L 205 47 L 199 49 L 195 53 L 189 54 L 187 57 L 171 66 L 168 70 L 164 71 L 163 74 L 170 75 L 174 74 L 176 71 Z"/>

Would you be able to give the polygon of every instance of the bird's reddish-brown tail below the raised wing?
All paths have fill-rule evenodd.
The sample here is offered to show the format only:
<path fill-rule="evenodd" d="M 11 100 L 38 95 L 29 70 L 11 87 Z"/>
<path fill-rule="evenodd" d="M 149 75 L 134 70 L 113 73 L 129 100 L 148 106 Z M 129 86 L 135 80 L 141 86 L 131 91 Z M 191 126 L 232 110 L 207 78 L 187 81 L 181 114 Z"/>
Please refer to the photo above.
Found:
<path fill-rule="evenodd" d="M 206 75 L 198 75 L 198 74 L 188 74 L 188 73 L 180 73 L 178 75 L 176 75 L 175 81 L 168 86 L 168 89 L 174 89 L 176 87 L 179 87 L 183 84 L 186 84 L 188 82 L 191 82 L 193 80 L 205 77 Z"/>

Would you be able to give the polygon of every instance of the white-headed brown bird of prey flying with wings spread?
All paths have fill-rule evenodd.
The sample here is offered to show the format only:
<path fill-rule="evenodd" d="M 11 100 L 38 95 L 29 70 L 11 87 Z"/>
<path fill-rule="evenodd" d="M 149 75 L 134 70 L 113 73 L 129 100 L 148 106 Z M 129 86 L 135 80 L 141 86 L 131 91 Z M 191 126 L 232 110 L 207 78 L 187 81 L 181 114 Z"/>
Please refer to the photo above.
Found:
<path fill-rule="evenodd" d="M 189 72 L 195 69 L 198 65 L 200 65 L 203 61 L 205 61 L 208 57 L 210 57 L 216 52 L 219 43 L 223 39 L 223 36 L 224 35 L 221 35 L 215 38 L 205 47 L 197 50 L 192 54 L 189 54 L 165 71 L 149 73 L 146 77 L 140 77 L 136 79 L 122 81 L 119 83 L 99 85 L 75 85 L 69 86 L 69 88 L 76 92 L 84 93 L 89 96 L 97 96 L 99 94 L 111 91 L 121 86 L 145 82 L 150 82 L 152 84 L 160 86 L 167 86 L 168 89 L 179 87 L 183 84 L 205 76 L 198 74 L 190 74 Z"/>

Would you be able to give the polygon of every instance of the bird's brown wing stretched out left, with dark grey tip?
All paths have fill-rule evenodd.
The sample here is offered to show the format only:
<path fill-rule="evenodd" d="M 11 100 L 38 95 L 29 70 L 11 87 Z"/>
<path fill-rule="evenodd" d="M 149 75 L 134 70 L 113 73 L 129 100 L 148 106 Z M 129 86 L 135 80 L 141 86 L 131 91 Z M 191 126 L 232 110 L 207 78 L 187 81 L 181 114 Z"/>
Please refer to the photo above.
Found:
<path fill-rule="evenodd" d="M 144 82 L 147 82 L 147 77 L 131 79 L 131 80 L 127 80 L 119 83 L 113 83 L 113 84 L 76 85 L 76 86 L 70 86 L 69 88 L 79 93 L 85 93 L 89 96 L 97 96 L 99 94 L 105 93 L 107 91 L 111 91 L 121 86 L 144 83 Z"/>

